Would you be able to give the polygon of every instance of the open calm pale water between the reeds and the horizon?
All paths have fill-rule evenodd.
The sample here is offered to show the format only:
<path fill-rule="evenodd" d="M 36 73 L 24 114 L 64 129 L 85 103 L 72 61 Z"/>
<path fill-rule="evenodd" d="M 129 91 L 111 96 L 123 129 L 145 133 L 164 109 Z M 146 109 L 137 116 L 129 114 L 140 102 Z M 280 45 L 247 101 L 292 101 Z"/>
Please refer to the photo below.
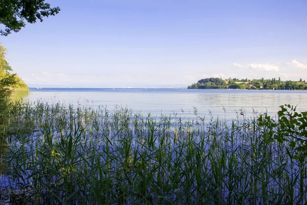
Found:
<path fill-rule="evenodd" d="M 98 88 L 30 88 L 25 99 L 48 103 L 72 104 L 75 107 L 115 106 L 131 108 L 134 112 L 153 115 L 213 117 L 231 119 L 241 110 L 246 116 L 266 111 L 275 115 L 283 104 L 297 105 L 299 111 L 307 110 L 307 91 L 268 90 L 191 90 L 191 89 L 98 89 Z"/>

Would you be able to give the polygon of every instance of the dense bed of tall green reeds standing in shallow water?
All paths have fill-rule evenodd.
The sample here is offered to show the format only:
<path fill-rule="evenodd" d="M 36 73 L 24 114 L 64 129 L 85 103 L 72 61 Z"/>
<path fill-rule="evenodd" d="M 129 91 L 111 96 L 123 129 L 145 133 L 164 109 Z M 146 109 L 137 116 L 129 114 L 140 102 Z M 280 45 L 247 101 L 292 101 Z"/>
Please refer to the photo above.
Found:
<path fill-rule="evenodd" d="M 2 191 L 34 204 L 306 202 L 305 163 L 265 144 L 257 120 L 194 114 L 14 103 Z"/>

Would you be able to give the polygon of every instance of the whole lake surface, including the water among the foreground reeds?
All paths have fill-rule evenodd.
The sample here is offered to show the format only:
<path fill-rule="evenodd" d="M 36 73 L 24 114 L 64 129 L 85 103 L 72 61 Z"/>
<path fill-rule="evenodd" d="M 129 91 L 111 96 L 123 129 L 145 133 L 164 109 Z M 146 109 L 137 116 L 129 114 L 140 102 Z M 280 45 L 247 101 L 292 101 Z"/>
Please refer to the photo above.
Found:
<path fill-rule="evenodd" d="M 305 161 L 295 160 L 288 142 L 267 144 L 262 133 L 270 126 L 243 120 L 230 126 L 206 123 L 209 113 L 231 120 L 241 119 L 241 112 L 246 117 L 266 111 L 275 115 L 282 104 L 307 110 L 306 91 L 30 90 L 24 98 L 33 103 L 107 106 L 110 111 L 118 105 L 144 118 L 126 110 L 93 113 L 17 104 L 9 115 L 9 149 L 2 163 L 11 172 L 0 173 L 3 195 L 26 191 L 19 195 L 37 203 L 72 204 L 135 204 L 140 198 L 153 204 L 166 199 L 175 204 L 260 204 L 268 199 L 297 204 L 306 198 Z M 206 116 L 204 124 L 193 120 L 196 110 Z M 156 120 L 146 117 L 148 112 L 186 118 Z"/>

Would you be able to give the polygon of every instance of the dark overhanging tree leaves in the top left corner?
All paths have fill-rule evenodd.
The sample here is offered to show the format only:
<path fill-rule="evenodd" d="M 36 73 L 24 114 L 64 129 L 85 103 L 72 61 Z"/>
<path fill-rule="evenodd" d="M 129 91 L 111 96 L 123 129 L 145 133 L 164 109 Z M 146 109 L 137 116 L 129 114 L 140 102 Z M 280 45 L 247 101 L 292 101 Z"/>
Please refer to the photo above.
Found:
<path fill-rule="evenodd" d="M 11 31 L 18 32 L 26 23 L 43 21 L 43 17 L 55 15 L 59 7 L 51 8 L 45 0 L 10 0 L 0 1 L 0 24 L 5 26 L 0 30 L 1 35 L 7 36 Z"/>

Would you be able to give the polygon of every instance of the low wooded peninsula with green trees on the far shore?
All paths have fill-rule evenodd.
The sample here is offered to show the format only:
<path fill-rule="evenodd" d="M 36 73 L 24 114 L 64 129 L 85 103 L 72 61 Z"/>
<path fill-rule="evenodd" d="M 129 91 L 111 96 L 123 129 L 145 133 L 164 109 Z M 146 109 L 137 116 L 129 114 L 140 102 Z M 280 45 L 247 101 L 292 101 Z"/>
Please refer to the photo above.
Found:
<path fill-rule="evenodd" d="M 300 78 L 299 81 L 272 79 L 237 79 L 205 78 L 188 86 L 188 89 L 250 89 L 250 90 L 307 90 L 307 83 Z"/>

